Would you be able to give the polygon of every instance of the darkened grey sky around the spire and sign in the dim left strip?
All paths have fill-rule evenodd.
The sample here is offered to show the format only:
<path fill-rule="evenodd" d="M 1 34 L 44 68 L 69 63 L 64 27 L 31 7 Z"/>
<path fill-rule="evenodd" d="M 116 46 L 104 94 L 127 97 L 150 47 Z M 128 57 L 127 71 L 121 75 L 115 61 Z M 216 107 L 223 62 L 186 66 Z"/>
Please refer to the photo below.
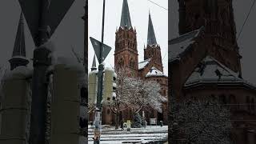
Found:
<path fill-rule="evenodd" d="M 54 32 L 51 39 L 55 43 L 56 54 L 58 56 L 74 57 L 71 53 L 71 46 L 74 46 L 74 50 L 83 57 L 84 22 L 81 18 L 84 15 L 83 6 L 85 6 L 85 0 L 75 0 L 65 18 L 63 18 L 57 30 Z M 18 0 L 0 1 L 0 66 L 9 65 L 8 60 L 14 49 L 20 12 L 21 8 Z M 25 37 L 26 55 L 27 58 L 32 58 L 34 42 L 27 25 L 25 26 Z"/>

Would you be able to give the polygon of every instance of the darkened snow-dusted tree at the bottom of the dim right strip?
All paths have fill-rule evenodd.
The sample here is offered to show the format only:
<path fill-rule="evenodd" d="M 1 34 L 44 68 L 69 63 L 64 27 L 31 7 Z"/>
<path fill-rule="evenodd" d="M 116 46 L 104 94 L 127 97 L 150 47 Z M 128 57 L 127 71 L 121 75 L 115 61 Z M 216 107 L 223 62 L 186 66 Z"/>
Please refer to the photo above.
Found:
<path fill-rule="evenodd" d="M 230 143 L 230 110 L 218 101 L 171 102 L 170 138 L 174 143 Z"/>

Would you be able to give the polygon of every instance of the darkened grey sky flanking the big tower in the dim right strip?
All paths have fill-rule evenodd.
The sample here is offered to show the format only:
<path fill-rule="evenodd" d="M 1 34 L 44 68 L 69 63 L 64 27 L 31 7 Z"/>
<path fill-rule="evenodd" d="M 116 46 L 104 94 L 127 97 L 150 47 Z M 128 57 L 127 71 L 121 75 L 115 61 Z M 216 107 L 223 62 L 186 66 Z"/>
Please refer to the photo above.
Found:
<path fill-rule="evenodd" d="M 236 22 L 237 32 L 241 30 L 242 23 L 246 18 L 246 14 L 250 10 L 253 0 L 233 0 L 234 18 Z M 178 36 L 178 1 L 169 1 L 169 38 Z M 256 84 L 256 7 L 251 11 L 250 18 L 246 22 L 246 26 L 238 39 L 240 54 L 242 55 L 242 77 L 249 82 Z"/>

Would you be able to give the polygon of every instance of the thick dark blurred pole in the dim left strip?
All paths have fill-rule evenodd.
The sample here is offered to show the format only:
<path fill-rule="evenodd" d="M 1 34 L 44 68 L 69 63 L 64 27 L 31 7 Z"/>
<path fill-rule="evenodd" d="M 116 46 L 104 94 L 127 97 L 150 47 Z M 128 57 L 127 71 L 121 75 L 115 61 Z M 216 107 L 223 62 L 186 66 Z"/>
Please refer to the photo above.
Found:
<path fill-rule="evenodd" d="M 41 46 L 49 39 L 47 32 L 46 14 L 49 1 L 40 1 L 39 30 L 36 46 Z M 46 133 L 46 98 L 47 98 L 47 80 L 46 70 L 50 66 L 48 58 L 50 50 L 46 48 L 36 48 L 34 50 L 33 66 L 33 87 L 32 87 L 32 106 L 30 119 L 30 144 L 44 144 Z"/>

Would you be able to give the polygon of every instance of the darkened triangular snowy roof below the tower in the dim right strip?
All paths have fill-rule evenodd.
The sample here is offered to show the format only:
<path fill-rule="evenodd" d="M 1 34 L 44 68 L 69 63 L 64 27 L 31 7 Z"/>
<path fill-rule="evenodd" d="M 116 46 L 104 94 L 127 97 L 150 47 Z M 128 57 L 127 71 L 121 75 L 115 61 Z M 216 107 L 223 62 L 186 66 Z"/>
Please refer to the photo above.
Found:
<path fill-rule="evenodd" d="M 185 86 L 198 82 L 243 82 L 238 75 L 216 59 L 206 56 L 187 79 Z"/>

